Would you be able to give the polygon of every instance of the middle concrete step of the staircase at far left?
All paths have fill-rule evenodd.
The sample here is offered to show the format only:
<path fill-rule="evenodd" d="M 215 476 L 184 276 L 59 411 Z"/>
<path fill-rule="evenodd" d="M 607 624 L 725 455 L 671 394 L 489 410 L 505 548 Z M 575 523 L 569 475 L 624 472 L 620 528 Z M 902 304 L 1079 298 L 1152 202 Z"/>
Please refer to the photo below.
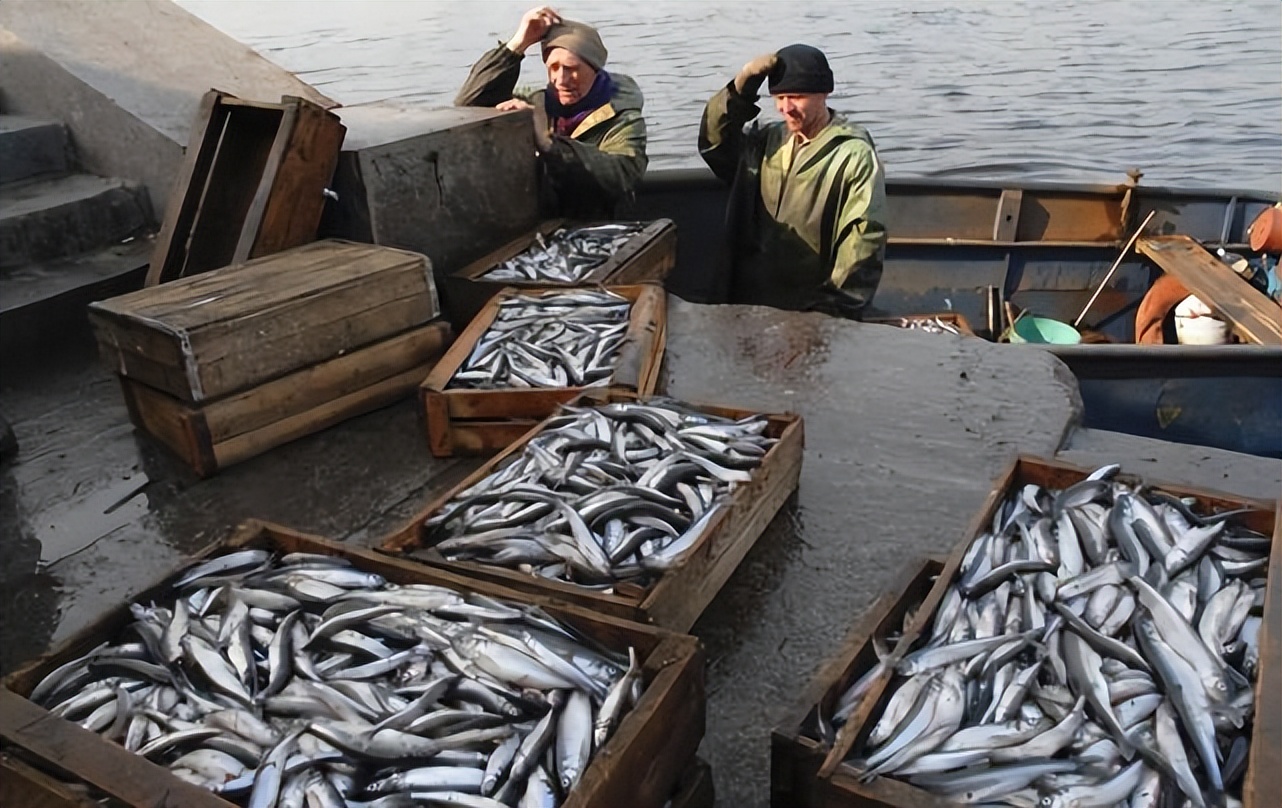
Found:
<path fill-rule="evenodd" d="M 154 222 L 146 189 L 92 174 L 0 185 L 0 269 L 118 244 Z"/>

